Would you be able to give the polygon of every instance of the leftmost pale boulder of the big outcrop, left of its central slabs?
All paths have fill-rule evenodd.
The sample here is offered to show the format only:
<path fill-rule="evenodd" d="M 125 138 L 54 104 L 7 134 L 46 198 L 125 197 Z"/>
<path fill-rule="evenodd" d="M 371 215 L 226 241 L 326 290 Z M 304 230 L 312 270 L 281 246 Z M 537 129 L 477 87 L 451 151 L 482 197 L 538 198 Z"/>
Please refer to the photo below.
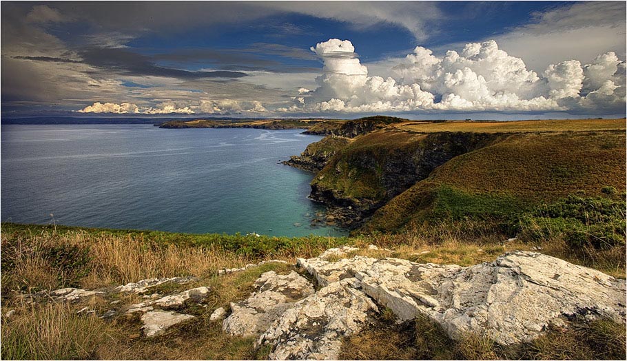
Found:
<path fill-rule="evenodd" d="M 247 300 L 231 303 L 232 313 L 223 322 L 227 333 L 234 336 L 263 333 L 294 302 L 314 293 L 311 283 L 294 271 L 287 275 L 265 272 L 254 287 L 256 292 Z"/>

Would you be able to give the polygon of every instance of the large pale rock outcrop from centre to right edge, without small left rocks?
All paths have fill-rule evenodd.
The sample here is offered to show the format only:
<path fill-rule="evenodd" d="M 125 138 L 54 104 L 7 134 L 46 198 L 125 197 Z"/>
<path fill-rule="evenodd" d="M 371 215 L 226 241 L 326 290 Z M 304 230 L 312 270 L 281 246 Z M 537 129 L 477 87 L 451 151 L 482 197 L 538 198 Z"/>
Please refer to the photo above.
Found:
<path fill-rule="evenodd" d="M 229 319 L 238 320 L 236 334 L 260 334 L 258 345 L 274 345 L 273 359 L 333 359 L 340 338 L 360 331 L 380 307 L 400 320 L 426 316 L 451 338 L 475 333 L 504 345 L 531 341 L 551 324 L 566 326 L 572 316 L 625 321 L 625 280 L 544 254 L 515 251 L 471 267 L 364 256 L 333 261 L 351 250 L 298 259 L 322 288 L 308 296 L 301 292 L 296 298 L 302 299 L 279 302 L 278 308 L 263 305 L 261 290 L 286 276 L 263 274 L 260 291 L 232 306 L 225 330 L 233 333 Z M 307 289 L 305 278 L 290 277 Z M 261 312 L 263 322 L 251 318 L 260 314 L 257 304 L 263 305 L 260 310 L 271 309 Z"/>

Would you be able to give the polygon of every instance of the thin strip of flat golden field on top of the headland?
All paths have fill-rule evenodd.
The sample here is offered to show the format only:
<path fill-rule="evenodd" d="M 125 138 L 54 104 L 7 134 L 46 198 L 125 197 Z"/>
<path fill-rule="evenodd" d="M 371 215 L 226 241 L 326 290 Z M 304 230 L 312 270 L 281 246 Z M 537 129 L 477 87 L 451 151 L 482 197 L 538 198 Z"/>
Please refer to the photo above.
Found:
<path fill-rule="evenodd" d="M 599 130 L 626 130 L 626 120 L 622 119 L 559 119 L 542 121 L 446 121 L 407 122 L 395 124 L 400 130 L 410 132 L 588 132 Z"/>

